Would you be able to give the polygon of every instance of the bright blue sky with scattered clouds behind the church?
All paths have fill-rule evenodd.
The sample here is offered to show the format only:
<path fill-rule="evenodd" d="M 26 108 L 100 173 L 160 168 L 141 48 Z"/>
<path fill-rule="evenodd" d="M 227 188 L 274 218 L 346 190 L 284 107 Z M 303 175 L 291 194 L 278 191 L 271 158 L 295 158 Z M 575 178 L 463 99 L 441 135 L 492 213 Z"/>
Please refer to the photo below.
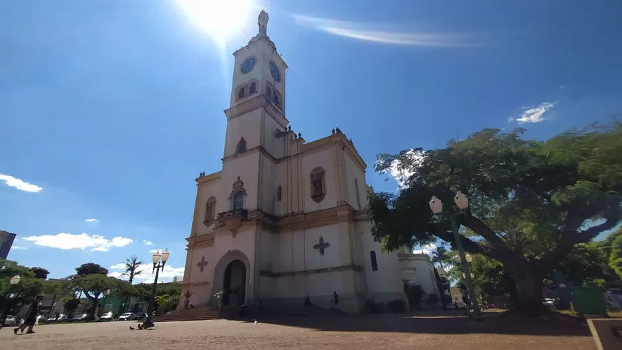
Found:
<path fill-rule="evenodd" d="M 315 140 L 339 126 L 377 191 L 396 188 L 372 172 L 381 152 L 484 127 L 543 139 L 622 111 L 621 1 L 221 7 L 210 21 L 179 1 L 0 2 L 0 228 L 18 235 L 9 258 L 64 277 L 168 247 L 165 277 L 180 275 L 194 179 L 221 167 L 231 53 L 256 33 L 260 8 L 290 66 L 293 128 Z M 214 34 L 222 10 L 242 23 L 226 40 Z"/>

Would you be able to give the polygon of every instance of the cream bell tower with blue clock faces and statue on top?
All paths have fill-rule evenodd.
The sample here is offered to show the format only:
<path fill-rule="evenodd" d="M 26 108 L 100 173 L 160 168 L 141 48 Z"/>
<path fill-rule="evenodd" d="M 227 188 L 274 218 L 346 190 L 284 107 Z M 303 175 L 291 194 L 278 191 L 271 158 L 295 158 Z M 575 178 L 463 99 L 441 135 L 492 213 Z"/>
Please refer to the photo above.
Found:
<path fill-rule="evenodd" d="M 227 183 L 244 183 L 244 209 L 271 212 L 269 194 L 276 191 L 270 180 L 276 174 L 276 159 L 285 156 L 282 132 L 286 118 L 287 64 L 267 36 L 268 14 L 258 17 L 258 34 L 233 52 L 233 78 L 229 108 L 225 110 L 227 131 L 223 152 L 223 193 Z M 227 179 L 227 180 L 225 180 Z M 274 189 L 272 188 L 274 187 Z M 231 188 L 228 188 L 231 191 Z M 265 194 L 263 194 L 265 192 Z M 219 204 L 220 206 L 220 204 Z M 220 211 L 230 210 L 220 207 Z"/>

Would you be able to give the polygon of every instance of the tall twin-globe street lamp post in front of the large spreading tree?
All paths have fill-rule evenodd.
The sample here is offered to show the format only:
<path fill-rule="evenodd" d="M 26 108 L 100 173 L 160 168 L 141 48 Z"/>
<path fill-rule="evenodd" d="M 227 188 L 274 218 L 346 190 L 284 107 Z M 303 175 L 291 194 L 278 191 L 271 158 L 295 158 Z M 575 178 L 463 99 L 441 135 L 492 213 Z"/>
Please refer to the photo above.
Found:
<path fill-rule="evenodd" d="M 466 254 L 464 254 L 464 247 L 462 247 L 459 227 L 456 221 L 456 217 L 460 214 L 463 214 L 463 211 L 466 210 L 466 208 L 468 207 L 468 198 L 466 198 L 462 191 L 457 191 L 456 196 L 454 197 L 454 202 L 456 203 L 459 211 L 450 213 L 449 217 L 452 224 L 452 231 L 454 231 L 456 247 L 458 248 L 459 261 L 457 262 L 461 265 L 462 272 L 465 277 L 464 279 L 466 279 L 466 288 L 468 289 L 471 304 L 473 305 L 473 313 L 475 314 L 475 319 L 477 321 L 482 321 L 483 318 L 482 312 L 480 311 L 480 305 L 477 304 L 477 297 L 475 297 L 475 286 L 473 286 L 471 272 L 468 271 L 468 258 L 471 258 L 471 256 L 469 255 L 467 258 Z M 436 198 L 435 196 L 432 196 L 432 199 L 430 200 L 430 209 L 434 214 L 439 214 L 441 211 L 443 211 L 443 202 L 441 202 L 440 199 Z"/>

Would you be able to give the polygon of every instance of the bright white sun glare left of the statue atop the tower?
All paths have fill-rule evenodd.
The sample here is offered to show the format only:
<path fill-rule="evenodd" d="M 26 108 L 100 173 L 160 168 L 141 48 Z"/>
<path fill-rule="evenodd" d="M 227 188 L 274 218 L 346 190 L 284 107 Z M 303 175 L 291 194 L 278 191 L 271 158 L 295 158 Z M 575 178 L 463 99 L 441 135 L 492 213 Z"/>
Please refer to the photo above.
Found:
<path fill-rule="evenodd" d="M 216 43 L 224 44 L 249 24 L 252 0 L 179 0 L 188 20 Z"/>

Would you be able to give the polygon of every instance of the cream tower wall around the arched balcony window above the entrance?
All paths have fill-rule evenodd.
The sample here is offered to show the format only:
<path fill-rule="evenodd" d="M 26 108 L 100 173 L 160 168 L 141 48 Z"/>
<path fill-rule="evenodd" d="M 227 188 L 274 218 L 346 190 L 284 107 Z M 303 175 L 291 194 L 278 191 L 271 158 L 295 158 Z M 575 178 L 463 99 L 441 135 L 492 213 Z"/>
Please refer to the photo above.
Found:
<path fill-rule="evenodd" d="M 216 205 L 216 212 L 226 212 L 232 210 L 232 200 L 229 199 L 233 190 L 233 183 L 237 181 L 237 177 L 244 182 L 246 196 L 244 197 L 244 209 L 255 210 L 257 208 L 257 190 L 258 184 L 258 166 L 259 152 L 246 152 L 238 156 L 225 159 L 223 163 L 223 171 L 221 175 L 221 188 L 219 200 Z"/>

